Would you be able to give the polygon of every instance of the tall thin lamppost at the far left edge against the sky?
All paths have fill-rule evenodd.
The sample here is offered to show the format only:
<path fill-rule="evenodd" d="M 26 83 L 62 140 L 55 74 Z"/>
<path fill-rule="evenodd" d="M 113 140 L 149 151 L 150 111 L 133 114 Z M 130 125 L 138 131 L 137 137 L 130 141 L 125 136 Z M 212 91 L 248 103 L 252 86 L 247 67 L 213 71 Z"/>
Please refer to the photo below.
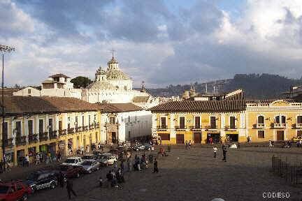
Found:
<path fill-rule="evenodd" d="M 15 51 L 14 47 L 0 45 L 0 52 L 2 54 L 2 158 L 3 158 L 3 172 L 6 170 L 6 156 L 5 156 L 5 145 L 6 145 L 6 135 L 4 135 L 4 53 Z"/>

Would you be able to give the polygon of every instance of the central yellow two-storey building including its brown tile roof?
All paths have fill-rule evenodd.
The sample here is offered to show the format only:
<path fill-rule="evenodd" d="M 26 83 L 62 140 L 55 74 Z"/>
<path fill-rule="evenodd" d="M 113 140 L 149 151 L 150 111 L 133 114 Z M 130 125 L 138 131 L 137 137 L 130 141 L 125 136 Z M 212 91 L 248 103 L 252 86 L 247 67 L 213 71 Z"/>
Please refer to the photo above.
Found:
<path fill-rule="evenodd" d="M 247 139 L 245 101 L 173 101 L 152 107 L 152 135 L 162 144 Z"/>

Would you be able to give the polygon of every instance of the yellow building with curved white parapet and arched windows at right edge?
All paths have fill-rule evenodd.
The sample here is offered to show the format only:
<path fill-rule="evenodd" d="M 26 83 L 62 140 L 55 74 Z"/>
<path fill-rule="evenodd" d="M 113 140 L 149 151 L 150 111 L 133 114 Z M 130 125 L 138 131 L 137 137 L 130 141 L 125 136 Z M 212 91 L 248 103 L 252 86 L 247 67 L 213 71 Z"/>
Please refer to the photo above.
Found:
<path fill-rule="evenodd" d="M 252 142 L 292 140 L 302 134 L 302 103 L 289 99 L 246 104 L 247 133 Z"/>

